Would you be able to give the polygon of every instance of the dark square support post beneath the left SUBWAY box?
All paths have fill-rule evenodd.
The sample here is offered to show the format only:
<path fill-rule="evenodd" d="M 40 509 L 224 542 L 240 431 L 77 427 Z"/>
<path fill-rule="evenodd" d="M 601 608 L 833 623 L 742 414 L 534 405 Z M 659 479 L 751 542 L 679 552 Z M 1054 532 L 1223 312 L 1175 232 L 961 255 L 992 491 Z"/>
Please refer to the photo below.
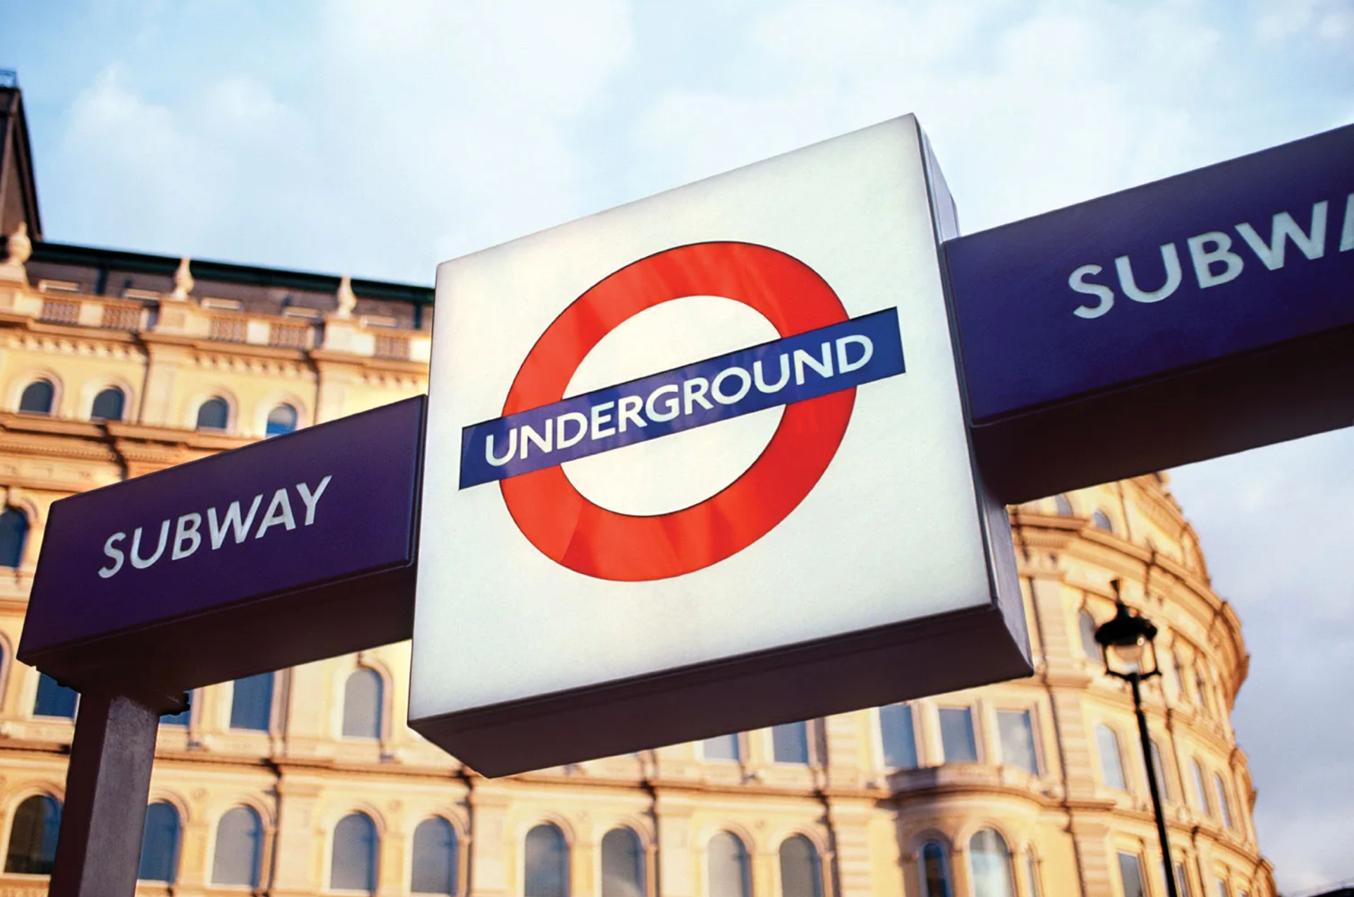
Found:
<path fill-rule="evenodd" d="M 156 733 L 172 702 L 126 688 L 80 695 L 50 897 L 135 893 Z"/>

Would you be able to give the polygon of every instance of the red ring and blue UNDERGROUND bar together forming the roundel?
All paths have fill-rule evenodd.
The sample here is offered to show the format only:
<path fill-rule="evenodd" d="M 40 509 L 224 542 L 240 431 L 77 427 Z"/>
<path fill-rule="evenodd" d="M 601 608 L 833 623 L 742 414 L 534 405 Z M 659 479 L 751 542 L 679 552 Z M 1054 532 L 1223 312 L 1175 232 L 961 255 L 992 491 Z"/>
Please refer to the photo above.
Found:
<path fill-rule="evenodd" d="M 616 324 L 703 294 L 747 305 L 781 339 L 563 398 L 578 364 Z M 766 247 L 668 249 L 607 276 L 550 325 L 523 362 L 504 416 L 462 431 L 460 486 L 502 481 L 523 535 L 575 572 L 681 576 L 741 551 L 791 514 L 837 453 L 854 388 L 902 373 L 896 309 L 850 320 L 816 272 Z M 785 415 L 751 466 L 728 488 L 670 514 L 603 508 L 559 466 L 777 405 L 787 405 Z M 709 533 L 711 520 L 733 526 Z"/>

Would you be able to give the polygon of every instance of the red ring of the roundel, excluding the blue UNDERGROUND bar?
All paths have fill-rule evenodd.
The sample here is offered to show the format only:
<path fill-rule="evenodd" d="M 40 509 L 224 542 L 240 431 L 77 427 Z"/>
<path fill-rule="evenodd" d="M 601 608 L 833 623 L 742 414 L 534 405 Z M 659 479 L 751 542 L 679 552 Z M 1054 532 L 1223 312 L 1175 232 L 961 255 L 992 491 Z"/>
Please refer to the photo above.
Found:
<path fill-rule="evenodd" d="M 601 337 L 645 309 L 688 295 L 743 302 L 783 337 L 848 318 L 827 282 L 784 252 L 749 243 L 666 249 L 574 299 L 527 355 L 502 413 L 559 401 Z M 716 495 L 670 514 L 628 515 L 593 504 L 558 465 L 500 486 L 523 535 L 571 570 L 631 583 L 681 576 L 737 554 L 789 516 L 837 454 L 854 402 L 852 388 L 787 405 L 747 470 Z"/>

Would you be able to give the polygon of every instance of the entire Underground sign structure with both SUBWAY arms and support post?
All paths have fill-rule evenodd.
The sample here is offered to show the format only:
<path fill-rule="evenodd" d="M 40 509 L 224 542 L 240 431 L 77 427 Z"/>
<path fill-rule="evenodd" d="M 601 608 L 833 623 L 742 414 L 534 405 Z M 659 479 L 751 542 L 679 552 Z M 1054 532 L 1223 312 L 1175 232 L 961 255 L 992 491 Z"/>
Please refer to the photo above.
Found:
<path fill-rule="evenodd" d="M 412 622 L 489 775 L 1028 675 L 1002 501 L 1354 423 L 1351 285 L 1354 127 L 957 237 L 911 117 L 445 263 L 427 434 L 53 505 L 53 893 L 134 890 L 171 694 Z"/>

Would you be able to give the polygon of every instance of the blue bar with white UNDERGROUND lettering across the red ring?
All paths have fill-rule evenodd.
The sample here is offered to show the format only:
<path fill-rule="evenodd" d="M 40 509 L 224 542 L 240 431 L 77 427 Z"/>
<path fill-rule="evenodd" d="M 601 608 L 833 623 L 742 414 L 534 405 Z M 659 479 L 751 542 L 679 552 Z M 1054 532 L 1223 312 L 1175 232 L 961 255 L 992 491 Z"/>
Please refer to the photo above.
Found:
<path fill-rule="evenodd" d="M 902 373 L 898 309 L 864 314 L 466 427 L 460 488 Z"/>

